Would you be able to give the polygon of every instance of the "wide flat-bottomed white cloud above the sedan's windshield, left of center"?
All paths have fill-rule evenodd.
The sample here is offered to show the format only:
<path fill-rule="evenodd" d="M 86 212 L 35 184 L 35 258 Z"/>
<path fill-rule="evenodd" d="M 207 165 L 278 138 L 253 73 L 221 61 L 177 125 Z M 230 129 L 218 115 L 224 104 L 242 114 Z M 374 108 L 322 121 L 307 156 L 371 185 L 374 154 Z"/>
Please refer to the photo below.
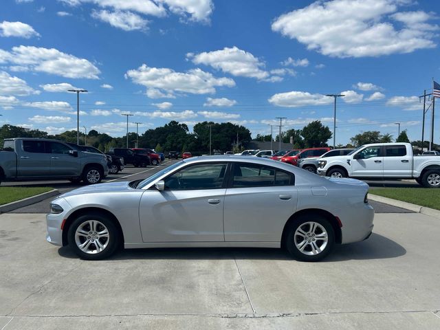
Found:
<path fill-rule="evenodd" d="M 234 87 L 235 82 L 230 78 L 215 78 L 201 69 L 191 69 L 188 72 L 175 72 L 165 67 L 148 67 L 146 64 L 137 69 L 129 70 L 125 78 L 131 78 L 133 83 L 143 85 L 148 89 L 159 89 L 163 95 L 175 93 L 214 94 L 215 87 Z M 148 90 L 147 90 L 148 95 Z"/>

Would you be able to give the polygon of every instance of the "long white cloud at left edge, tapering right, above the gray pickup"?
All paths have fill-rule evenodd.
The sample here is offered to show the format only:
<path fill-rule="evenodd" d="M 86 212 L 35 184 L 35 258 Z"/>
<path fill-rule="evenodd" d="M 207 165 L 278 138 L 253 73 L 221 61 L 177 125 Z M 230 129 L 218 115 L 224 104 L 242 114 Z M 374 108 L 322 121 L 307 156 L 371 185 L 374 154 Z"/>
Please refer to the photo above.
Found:
<path fill-rule="evenodd" d="M 99 69 L 85 58 L 54 48 L 21 45 L 12 47 L 11 52 L 0 50 L 0 63 L 18 65 L 21 71 L 44 72 L 66 78 L 98 79 L 100 74 Z"/>

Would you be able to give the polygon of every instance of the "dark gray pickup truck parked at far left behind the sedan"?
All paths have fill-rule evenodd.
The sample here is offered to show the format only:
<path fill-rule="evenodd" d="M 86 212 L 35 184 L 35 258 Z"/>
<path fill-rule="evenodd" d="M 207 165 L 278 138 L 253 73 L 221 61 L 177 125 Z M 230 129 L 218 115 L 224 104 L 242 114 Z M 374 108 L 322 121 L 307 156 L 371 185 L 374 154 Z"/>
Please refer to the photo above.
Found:
<path fill-rule="evenodd" d="M 49 139 L 5 139 L 0 151 L 0 182 L 30 179 L 69 179 L 98 184 L 109 173 L 105 155 L 76 151 Z"/>

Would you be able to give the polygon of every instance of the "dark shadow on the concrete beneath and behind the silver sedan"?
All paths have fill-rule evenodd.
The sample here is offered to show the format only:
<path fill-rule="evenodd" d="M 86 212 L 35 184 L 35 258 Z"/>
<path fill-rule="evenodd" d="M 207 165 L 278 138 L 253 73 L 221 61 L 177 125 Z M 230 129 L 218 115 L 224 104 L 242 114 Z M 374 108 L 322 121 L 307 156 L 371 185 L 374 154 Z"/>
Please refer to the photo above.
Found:
<path fill-rule="evenodd" d="M 68 246 L 58 249 L 65 258 L 78 259 Z M 333 252 L 322 262 L 349 260 L 391 259 L 403 256 L 406 250 L 391 239 L 380 234 L 371 234 L 366 241 L 336 245 Z M 121 250 L 107 261 L 135 259 L 239 259 L 239 260 L 293 260 L 281 249 L 270 248 L 148 248 Z"/>

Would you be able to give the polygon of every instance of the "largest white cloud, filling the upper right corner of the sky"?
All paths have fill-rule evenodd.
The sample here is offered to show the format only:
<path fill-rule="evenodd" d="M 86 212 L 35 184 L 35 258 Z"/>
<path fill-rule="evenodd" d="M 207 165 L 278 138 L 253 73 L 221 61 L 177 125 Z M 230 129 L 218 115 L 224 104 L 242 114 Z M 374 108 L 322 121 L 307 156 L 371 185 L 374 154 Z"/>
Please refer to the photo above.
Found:
<path fill-rule="evenodd" d="M 399 0 L 316 1 L 276 18 L 272 30 L 307 45 L 308 50 L 336 57 L 382 56 L 433 48 L 438 26 L 430 15 L 397 12 Z M 393 16 L 389 16 L 393 14 Z M 397 28 L 391 20 L 404 22 Z M 411 25 L 410 22 L 417 21 Z"/>

